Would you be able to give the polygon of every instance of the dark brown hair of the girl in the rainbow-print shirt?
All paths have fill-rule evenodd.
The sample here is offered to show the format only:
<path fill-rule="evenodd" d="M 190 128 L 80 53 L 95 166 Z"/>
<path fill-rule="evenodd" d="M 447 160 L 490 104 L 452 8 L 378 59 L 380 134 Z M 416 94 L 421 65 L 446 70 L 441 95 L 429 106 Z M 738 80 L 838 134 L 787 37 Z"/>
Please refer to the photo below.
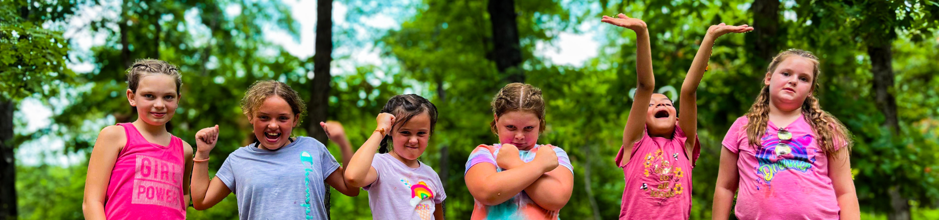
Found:
<path fill-rule="evenodd" d="M 427 115 L 430 116 L 430 134 L 434 134 L 434 127 L 437 125 L 437 106 L 419 95 L 396 95 L 385 103 L 385 107 L 381 108 L 381 113 L 394 115 L 392 130 L 394 130 L 394 127 L 398 126 L 398 124 L 408 123 L 408 120 L 414 118 L 414 116 L 421 115 L 423 112 L 427 112 Z M 385 135 L 381 143 L 378 144 L 378 146 L 380 146 L 378 152 L 388 152 L 388 142 L 390 141 L 392 141 L 391 131 L 389 131 L 389 135 Z"/>

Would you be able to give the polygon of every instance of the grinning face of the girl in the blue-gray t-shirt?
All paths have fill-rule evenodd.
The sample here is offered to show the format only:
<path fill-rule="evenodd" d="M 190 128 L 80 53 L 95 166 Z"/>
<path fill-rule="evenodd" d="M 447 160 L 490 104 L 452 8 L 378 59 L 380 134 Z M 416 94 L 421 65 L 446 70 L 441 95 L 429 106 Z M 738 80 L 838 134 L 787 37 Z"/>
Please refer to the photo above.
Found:
<path fill-rule="evenodd" d="M 290 143 L 288 139 L 297 126 L 299 115 L 295 114 L 283 98 L 270 96 L 261 103 L 251 118 L 254 137 L 261 149 L 280 149 Z"/>

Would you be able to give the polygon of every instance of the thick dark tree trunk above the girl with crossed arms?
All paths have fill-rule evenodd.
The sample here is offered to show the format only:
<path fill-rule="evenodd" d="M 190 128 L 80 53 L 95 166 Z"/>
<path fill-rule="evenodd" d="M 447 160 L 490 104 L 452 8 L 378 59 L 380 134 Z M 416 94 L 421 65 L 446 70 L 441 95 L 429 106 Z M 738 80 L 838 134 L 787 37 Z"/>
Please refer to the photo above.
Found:
<path fill-rule="evenodd" d="M 520 67 L 522 51 L 518 43 L 515 1 L 489 0 L 488 10 L 494 47 L 488 58 L 496 62 L 496 68 L 505 74 L 506 81 L 523 83 L 525 71 Z"/>

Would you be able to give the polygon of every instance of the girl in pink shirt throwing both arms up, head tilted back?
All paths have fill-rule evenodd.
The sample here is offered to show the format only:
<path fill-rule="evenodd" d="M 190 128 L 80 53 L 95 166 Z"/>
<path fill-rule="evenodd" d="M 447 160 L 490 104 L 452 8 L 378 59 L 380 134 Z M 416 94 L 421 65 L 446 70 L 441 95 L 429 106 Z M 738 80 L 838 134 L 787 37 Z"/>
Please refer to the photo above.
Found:
<path fill-rule="evenodd" d="M 696 91 L 715 39 L 727 33 L 753 30 L 747 24 L 712 25 L 682 85 L 681 118 L 664 94 L 654 93 L 652 52 L 645 22 L 619 14 L 602 22 L 629 28 L 637 34 L 639 86 L 623 129 L 623 146 L 616 165 L 623 168 L 625 188 L 620 219 L 688 219 L 691 212 L 691 169 L 700 153 Z M 648 105 L 647 105 L 648 104 Z M 677 123 L 676 123 L 677 122 Z M 690 137 L 690 138 L 689 138 Z"/>

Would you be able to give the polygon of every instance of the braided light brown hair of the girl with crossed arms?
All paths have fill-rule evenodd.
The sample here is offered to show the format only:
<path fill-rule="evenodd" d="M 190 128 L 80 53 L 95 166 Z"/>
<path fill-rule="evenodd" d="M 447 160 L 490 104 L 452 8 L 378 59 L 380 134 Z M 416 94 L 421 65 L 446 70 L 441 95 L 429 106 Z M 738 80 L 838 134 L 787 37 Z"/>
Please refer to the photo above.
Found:
<path fill-rule="evenodd" d="M 502 87 L 499 94 L 492 98 L 492 113 L 501 117 L 511 111 L 531 112 L 541 120 L 538 133 L 545 132 L 545 100 L 541 97 L 540 88 L 522 83 L 511 83 Z M 489 129 L 492 133 L 499 134 L 496 130 L 496 118 L 489 122 Z"/>

